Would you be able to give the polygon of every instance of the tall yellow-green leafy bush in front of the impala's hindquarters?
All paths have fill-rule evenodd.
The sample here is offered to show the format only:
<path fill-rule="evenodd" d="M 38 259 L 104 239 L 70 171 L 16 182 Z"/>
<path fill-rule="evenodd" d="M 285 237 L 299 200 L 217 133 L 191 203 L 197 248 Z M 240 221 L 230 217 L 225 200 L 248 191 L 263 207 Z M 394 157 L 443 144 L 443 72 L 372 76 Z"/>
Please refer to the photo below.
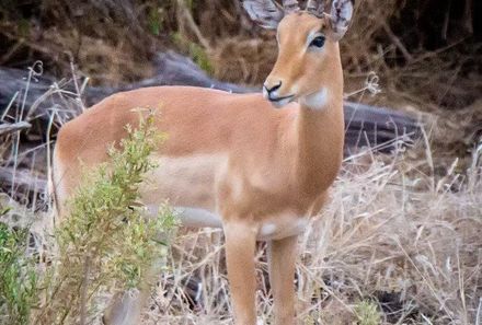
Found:
<path fill-rule="evenodd" d="M 95 307 L 101 294 L 139 286 L 151 260 L 165 254 L 158 239 L 173 229 L 173 213 L 163 207 L 148 218 L 139 199 L 145 174 L 156 167 L 149 155 L 162 136 L 151 114 L 127 131 L 120 150 L 112 147 L 110 162 L 90 172 L 69 201 L 35 324 L 91 323 L 102 312 Z"/>

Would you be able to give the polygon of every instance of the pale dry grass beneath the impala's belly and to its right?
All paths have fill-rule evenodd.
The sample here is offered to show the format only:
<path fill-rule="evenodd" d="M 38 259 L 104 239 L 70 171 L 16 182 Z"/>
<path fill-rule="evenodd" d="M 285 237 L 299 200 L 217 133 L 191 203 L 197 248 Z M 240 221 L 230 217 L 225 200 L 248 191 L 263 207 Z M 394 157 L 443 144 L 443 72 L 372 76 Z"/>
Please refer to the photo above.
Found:
<path fill-rule="evenodd" d="M 457 189 L 451 185 L 460 175 L 414 176 L 403 154 L 390 156 L 389 164 L 369 153 L 348 159 L 330 204 L 299 241 L 299 323 L 352 324 L 359 302 L 372 300 L 383 324 L 475 324 L 482 297 L 481 153 Z M 145 324 L 230 324 L 220 236 L 202 230 L 179 237 Z M 259 316 L 268 324 L 260 247 Z M 190 278 L 200 279 L 203 288 L 194 309 L 180 290 Z"/>

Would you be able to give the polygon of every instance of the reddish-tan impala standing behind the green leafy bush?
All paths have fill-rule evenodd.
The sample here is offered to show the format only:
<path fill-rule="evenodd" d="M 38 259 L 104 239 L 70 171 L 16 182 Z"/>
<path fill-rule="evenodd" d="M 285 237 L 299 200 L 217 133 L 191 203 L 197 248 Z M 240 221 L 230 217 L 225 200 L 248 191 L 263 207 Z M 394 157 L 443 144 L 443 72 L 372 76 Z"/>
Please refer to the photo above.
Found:
<path fill-rule="evenodd" d="M 297 236 L 324 204 L 342 163 L 338 40 L 353 4 L 334 0 L 330 13 L 312 0 L 306 10 L 295 0 L 283 8 L 245 0 L 243 7 L 263 27 L 277 28 L 279 53 L 263 95 L 190 86 L 114 94 L 60 129 L 55 196 L 66 214 L 80 165 L 107 159 L 125 126 L 138 123 L 131 108 L 159 109 L 156 126 L 169 139 L 156 151 L 160 167 L 142 188 L 144 202 L 156 207 L 169 199 L 183 224 L 222 228 L 236 324 L 256 322 L 255 242 L 267 241 L 275 323 L 294 324 Z M 139 300 L 115 302 L 107 322 L 135 324 Z"/>

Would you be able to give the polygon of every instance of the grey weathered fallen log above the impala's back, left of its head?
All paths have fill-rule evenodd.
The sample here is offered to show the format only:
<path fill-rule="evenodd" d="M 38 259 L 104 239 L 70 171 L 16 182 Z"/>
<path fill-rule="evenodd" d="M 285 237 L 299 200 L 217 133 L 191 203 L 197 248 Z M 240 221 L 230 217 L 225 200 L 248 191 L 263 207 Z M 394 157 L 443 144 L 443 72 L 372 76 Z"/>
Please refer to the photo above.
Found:
<path fill-rule="evenodd" d="M 46 123 L 51 107 L 67 106 L 71 109 L 76 106 L 73 108 L 78 111 L 79 103 L 76 103 L 78 95 L 82 98 L 83 105 L 91 106 L 116 92 L 154 85 L 193 85 L 233 93 L 256 91 L 256 89 L 211 79 L 191 59 L 172 51 L 159 54 L 154 66 L 156 74 L 152 78 L 117 88 L 87 86 L 83 91 L 80 90 L 80 94 L 78 94 L 79 85 L 76 86 L 73 80 L 64 79 L 56 82 L 50 76 L 34 72 L 35 67 L 28 70 L 0 68 L 2 81 L 0 83 L 0 116 L 13 115 L 19 107 L 23 107 L 26 111 L 25 116 Z M 32 108 L 35 112 L 31 112 Z M 7 109 L 9 112 L 5 113 Z"/>

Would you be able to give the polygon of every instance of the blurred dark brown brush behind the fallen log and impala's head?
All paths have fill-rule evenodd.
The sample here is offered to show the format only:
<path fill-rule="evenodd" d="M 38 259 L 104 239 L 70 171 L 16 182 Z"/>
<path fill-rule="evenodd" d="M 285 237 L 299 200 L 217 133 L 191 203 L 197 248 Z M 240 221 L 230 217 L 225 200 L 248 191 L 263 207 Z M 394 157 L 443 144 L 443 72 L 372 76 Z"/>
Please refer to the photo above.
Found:
<path fill-rule="evenodd" d="M 349 100 L 434 114 L 444 126 L 434 141 L 463 154 L 482 128 L 481 7 L 356 1 L 342 40 L 345 92 L 362 89 L 370 71 L 382 92 Z M 0 44 L 0 67 L 41 60 L 57 80 L 74 67 L 89 85 L 110 88 L 154 76 L 156 57 L 168 49 L 215 79 L 250 86 L 260 86 L 276 58 L 273 32 L 253 24 L 240 1 L 225 0 L 2 0 Z"/>

